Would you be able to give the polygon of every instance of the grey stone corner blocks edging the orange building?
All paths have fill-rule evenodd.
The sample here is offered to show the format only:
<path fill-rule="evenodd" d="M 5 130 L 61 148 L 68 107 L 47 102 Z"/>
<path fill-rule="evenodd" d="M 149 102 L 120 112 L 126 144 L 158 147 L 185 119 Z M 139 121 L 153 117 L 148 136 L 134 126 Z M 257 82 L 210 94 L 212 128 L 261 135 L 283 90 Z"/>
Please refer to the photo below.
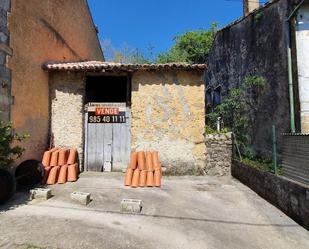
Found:
<path fill-rule="evenodd" d="M 8 14 L 11 1 L 0 1 L 0 119 L 10 119 L 11 107 L 11 72 L 7 68 L 8 56 L 12 55 L 10 34 L 8 30 Z"/>

